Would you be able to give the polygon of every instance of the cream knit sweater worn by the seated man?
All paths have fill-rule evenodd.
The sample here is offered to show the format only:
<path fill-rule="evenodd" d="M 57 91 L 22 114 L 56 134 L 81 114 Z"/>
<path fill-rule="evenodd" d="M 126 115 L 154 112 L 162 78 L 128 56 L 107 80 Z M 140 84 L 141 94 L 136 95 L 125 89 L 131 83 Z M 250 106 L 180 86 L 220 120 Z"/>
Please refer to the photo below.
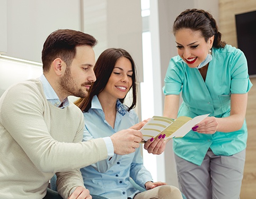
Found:
<path fill-rule="evenodd" d="M 73 103 L 49 103 L 38 79 L 18 83 L 0 98 L 0 198 L 43 198 L 49 179 L 67 198 L 83 186 L 80 168 L 107 158 L 102 138 L 81 142 L 83 114 Z"/>

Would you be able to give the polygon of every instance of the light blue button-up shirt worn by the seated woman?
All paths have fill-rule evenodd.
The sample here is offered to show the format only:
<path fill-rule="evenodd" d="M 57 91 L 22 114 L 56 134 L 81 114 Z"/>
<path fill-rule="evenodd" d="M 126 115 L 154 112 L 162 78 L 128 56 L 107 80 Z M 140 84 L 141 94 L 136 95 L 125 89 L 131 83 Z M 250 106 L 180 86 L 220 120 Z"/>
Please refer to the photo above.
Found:
<path fill-rule="evenodd" d="M 127 129 L 138 122 L 138 116 L 134 110 L 127 111 L 127 107 L 117 101 L 117 115 L 112 128 L 102 110 L 97 96 L 92 99 L 92 107 L 84 112 L 85 131 L 84 141 L 93 138 L 111 136 L 115 132 Z M 121 144 L 121 143 L 120 143 Z M 130 183 L 129 177 L 142 187 L 152 181 L 152 176 L 143 166 L 140 148 L 128 155 L 117 155 L 111 159 L 81 168 L 84 185 L 91 194 L 101 195 L 111 199 L 133 198 L 139 191 Z"/>

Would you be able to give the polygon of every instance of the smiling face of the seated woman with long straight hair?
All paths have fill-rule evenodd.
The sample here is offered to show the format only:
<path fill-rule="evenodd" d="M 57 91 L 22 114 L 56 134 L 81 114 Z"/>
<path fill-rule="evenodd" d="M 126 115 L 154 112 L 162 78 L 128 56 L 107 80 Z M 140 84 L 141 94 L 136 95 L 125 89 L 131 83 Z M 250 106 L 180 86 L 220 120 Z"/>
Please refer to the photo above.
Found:
<path fill-rule="evenodd" d="M 102 92 L 108 93 L 115 99 L 125 98 L 133 85 L 132 75 L 133 69 L 130 60 L 122 56 L 114 65 L 109 81 Z"/>

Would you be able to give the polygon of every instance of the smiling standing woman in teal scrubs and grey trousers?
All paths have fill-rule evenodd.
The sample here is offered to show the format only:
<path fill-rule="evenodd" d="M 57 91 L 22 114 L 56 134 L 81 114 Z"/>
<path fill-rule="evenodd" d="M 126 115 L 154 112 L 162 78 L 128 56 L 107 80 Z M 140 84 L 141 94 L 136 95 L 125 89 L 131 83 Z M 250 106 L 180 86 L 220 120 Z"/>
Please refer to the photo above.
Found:
<path fill-rule="evenodd" d="M 178 55 L 164 79 L 163 115 L 210 113 L 186 136 L 173 139 L 180 189 L 189 199 L 239 198 L 252 87 L 244 53 L 221 41 L 216 21 L 203 10 L 182 12 L 173 33 Z"/>

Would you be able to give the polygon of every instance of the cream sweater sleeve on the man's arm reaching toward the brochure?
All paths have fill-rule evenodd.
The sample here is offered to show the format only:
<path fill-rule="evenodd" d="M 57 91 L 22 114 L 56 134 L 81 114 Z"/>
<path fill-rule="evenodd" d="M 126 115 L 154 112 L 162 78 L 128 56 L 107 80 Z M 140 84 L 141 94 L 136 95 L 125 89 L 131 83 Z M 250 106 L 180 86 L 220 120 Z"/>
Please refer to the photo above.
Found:
<path fill-rule="evenodd" d="M 102 138 L 64 143 L 50 135 L 43 117 L 47 102 L 34 84 L 17 84 L 1 100 L 2 125 L 41 172 L 69 172 L 107 158 Z"/>

